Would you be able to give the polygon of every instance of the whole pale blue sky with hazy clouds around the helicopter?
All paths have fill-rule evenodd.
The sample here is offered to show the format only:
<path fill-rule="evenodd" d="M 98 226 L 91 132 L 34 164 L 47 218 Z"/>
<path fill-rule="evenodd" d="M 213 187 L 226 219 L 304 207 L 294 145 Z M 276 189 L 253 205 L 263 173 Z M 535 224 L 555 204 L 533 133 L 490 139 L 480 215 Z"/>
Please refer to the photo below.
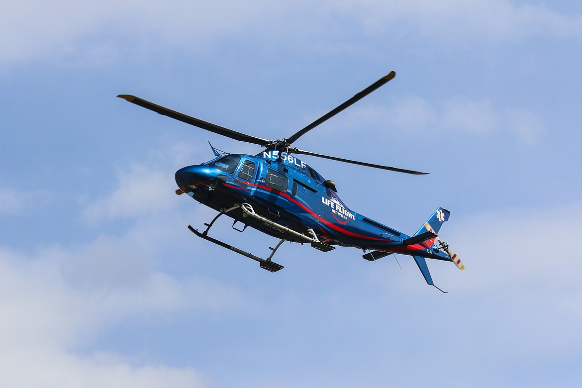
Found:
<path fill-rule="evenodd" d="M 578 2 L 0 6 L 2 386 L 580 385 Z M 404 233 L 448 208 L 448 294 L 406 257 L 285 244 L 273 274 L 196 239 L 173 173 L 260 149 L 115 97 L 281 138 L 391 70 L 297 147 L 431 172 L 302 158 Z"/>

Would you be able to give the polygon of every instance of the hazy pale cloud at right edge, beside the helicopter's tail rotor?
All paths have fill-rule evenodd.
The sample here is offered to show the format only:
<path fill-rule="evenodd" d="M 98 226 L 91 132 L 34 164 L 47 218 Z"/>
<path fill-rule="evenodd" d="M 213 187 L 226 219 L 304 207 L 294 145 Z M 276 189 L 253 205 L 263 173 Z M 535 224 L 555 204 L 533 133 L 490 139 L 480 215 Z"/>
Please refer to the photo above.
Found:
<path fill-rule="evenodd" d="M 516 284 L 534 294 L 576 287 L 582 261 L 572 243 L 582 233 L 581 216 L 582 204 L 572 204 L 484 212 L 451 222 L 455 251 L 475 255 L 464 285 L 482 290 Z"/>

